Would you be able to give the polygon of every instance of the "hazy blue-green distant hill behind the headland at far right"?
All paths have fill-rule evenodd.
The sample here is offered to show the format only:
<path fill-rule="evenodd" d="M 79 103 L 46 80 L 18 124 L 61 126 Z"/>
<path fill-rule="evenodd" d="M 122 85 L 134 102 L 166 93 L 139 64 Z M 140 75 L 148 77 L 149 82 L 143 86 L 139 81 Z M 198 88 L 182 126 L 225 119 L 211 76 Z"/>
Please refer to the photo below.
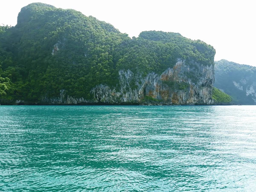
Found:
<path fill-rule="evenodd" d="M 215 61 L 214 86 L 232 96 L 234 104 L 256 105 L 256 67 Z"/>

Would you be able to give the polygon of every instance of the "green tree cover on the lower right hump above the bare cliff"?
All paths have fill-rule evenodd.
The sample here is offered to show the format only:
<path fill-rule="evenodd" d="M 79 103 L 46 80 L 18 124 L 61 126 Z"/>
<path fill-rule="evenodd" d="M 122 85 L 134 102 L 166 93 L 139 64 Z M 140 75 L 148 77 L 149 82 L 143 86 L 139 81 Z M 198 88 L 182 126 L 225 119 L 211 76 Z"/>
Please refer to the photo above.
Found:
<path fill-rule="evenodd" d="M 177 58 L 193 65 L 213 64 L 215 49 L 206 43 L 184 38 L 179 33 L 145 31 L 138 38 L 128 39 L 116 49 L 117 68 L 140 70 L 144 74 L 163 73 L 173 67 Z"/>

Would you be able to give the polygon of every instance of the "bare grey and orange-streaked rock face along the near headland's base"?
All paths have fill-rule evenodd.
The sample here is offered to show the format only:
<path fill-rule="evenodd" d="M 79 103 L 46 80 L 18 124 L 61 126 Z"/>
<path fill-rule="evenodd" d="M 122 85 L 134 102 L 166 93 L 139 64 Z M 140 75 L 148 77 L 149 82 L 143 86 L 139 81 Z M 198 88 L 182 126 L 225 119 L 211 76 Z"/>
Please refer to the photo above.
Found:
<path fill-rule="evenodd" d="M 166 69 L 161 75 L 154 72 L 143 77 L 131 70 L 119 70 L 119 84 L 111 88 L 99 84 L 91 90 L 92 100 L 73 98 L 61 90 L 57 98 L 42 98 L 42 103 L 49 104 L 145 104 L 150 101 L 160 104 L 214 104 L 212 84 L 214 66 L 193 64 L 189 67 L 186 61 L 179 60 L 173 68 Z M 201 78 L 193 78 L 200 76 Z M 197 81 L 194 81 L 197 79 Z"/>

